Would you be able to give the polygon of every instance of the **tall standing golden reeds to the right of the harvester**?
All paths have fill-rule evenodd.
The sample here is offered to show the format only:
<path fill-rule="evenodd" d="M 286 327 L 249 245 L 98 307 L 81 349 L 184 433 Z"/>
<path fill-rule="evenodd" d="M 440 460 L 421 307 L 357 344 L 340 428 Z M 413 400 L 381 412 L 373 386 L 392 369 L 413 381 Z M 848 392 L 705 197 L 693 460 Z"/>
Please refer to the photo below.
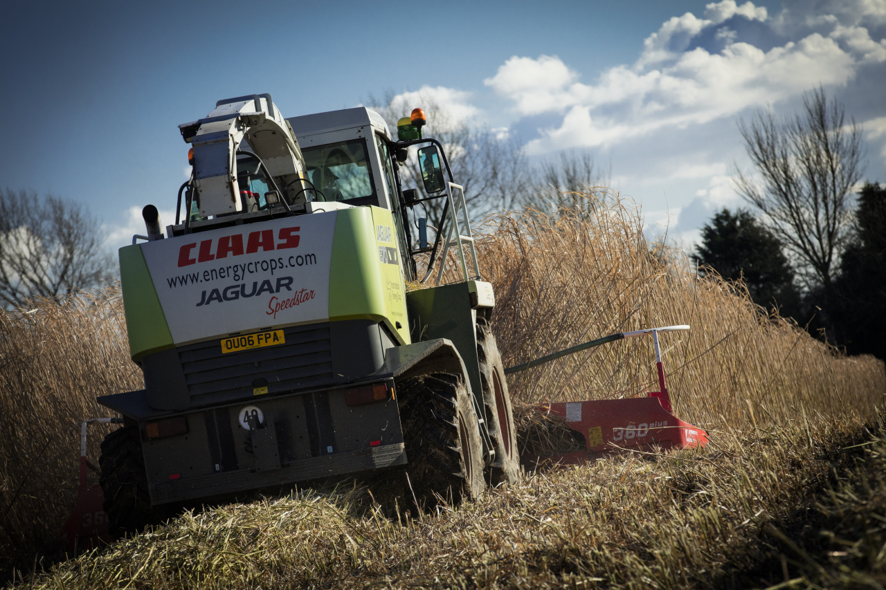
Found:
<path fill-rule="evenodd" d="M 778 317 L 741 284 L 700 279 L 681 252 L 650 251 L 639 207 L 603 190 L 556 214 L 486 221 L 480 268 L 494 285 L 494 330 L 505 366 L 601 336 L 690 324 L 661 336 L 675 413 L 707 428 L 751 413 L 784 423 L 805 414 L 872 415 L 886 394 L 882 361 L 848 358 Z M 455 257 L 447 276 L 454 280 Z M 650 337 L 621 340 L 509 376 L 511 396 L 598 400 L 657 390 Z"/>

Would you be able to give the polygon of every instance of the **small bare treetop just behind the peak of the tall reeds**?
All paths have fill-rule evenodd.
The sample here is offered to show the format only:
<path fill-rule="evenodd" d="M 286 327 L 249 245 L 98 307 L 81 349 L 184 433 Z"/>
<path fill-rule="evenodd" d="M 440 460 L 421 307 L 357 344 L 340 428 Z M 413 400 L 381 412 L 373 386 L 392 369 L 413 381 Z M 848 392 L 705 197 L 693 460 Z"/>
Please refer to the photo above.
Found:
<path fill-rule="evenodd" d="M 591 204 L 587 196 L 579 193 L 590 192 L 604 198 L 610 175 L 610 169 L 603 170 L 596 165 L 590 150 L 563 150 L 556 159 L 540 161 L 533 173 L 532 184 L 536 189 L 524 195 L 524 202 L 542 210 L 585 209 Z"/>

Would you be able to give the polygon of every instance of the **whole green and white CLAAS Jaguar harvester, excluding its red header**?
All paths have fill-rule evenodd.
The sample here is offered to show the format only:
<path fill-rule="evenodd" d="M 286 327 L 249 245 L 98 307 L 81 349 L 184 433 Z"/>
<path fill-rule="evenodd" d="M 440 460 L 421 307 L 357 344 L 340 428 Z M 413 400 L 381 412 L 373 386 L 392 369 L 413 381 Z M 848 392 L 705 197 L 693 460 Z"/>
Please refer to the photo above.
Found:
<path fill-rule="evenodd" d="M 193 174 L 175 224 L 146 206 L 147 241 L 120 249 L 144 389 L 98 399 L 124 421 L 100 460 L 112 533 L 325 477 L 405 470 L 426 506 L 518 480 L 492 286 L 423 125 L 416 109 L 395 140 L 362 107 L 284 119 L 263 94 L 180 126 Z M 412 145 L 424 198 L 402 189 Z M 449 229 L 431 246 L 412 207 L 435 198 Z"/>

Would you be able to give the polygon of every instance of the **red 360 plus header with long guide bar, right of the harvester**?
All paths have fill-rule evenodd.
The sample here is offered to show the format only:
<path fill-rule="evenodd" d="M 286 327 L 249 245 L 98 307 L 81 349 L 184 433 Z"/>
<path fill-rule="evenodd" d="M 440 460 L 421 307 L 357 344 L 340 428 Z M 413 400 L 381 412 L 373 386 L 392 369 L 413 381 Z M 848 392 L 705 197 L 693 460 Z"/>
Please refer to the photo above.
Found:
<path fill-rule="evenodd" d="M 538 411 L 547 415 L 559 416 L 566 426 L 576 431 L 580 435 L 576 439 L 584 440 L 584 448 L 559 453 L 556 449 L 549 449 L 549 453 L 546 452 L 546 449 L 527 450 L 523 454 L 523 461 L 531 465 L 574 464 L 594 461 L 606 454 L 647 451 L 653 448 L 666 450 L 707 445 L 707 432 L 683 422 L 671 413 L 671 398 L 664 384 L 664 367 L 661 348 L 658 345 L 658 332 L 688 329 L 689 326 L 680 325 L 611 334 L 583 345 L 567 348 L 559 353 L 548 354 L 537 361 L 506 369 L 505 373 L 514 373 L 518 370 L 535 367 L 542 362 L 553 361 L 565 354 L 577 353 L 593 346 L 647 334 L 652 334 L 652 341 L 655 345 L 658 372 L 657 392 L 649 392 L 646 398 L 567 401 L 539 406 L 536 408 Z"/>

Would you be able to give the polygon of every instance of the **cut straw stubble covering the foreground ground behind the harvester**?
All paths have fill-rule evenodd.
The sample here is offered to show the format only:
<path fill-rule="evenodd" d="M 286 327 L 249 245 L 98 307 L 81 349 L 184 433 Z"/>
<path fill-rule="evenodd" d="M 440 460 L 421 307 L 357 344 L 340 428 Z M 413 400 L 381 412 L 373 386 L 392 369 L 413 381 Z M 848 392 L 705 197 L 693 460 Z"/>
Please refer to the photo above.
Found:
<path fill-rule="evenodd" d="M 881 588 L 886 432 L 874 434 L 814 417 L 534 474 L 403 520 L 359 486 L 302 490 L 186 513 L 19 587 Z"/>

